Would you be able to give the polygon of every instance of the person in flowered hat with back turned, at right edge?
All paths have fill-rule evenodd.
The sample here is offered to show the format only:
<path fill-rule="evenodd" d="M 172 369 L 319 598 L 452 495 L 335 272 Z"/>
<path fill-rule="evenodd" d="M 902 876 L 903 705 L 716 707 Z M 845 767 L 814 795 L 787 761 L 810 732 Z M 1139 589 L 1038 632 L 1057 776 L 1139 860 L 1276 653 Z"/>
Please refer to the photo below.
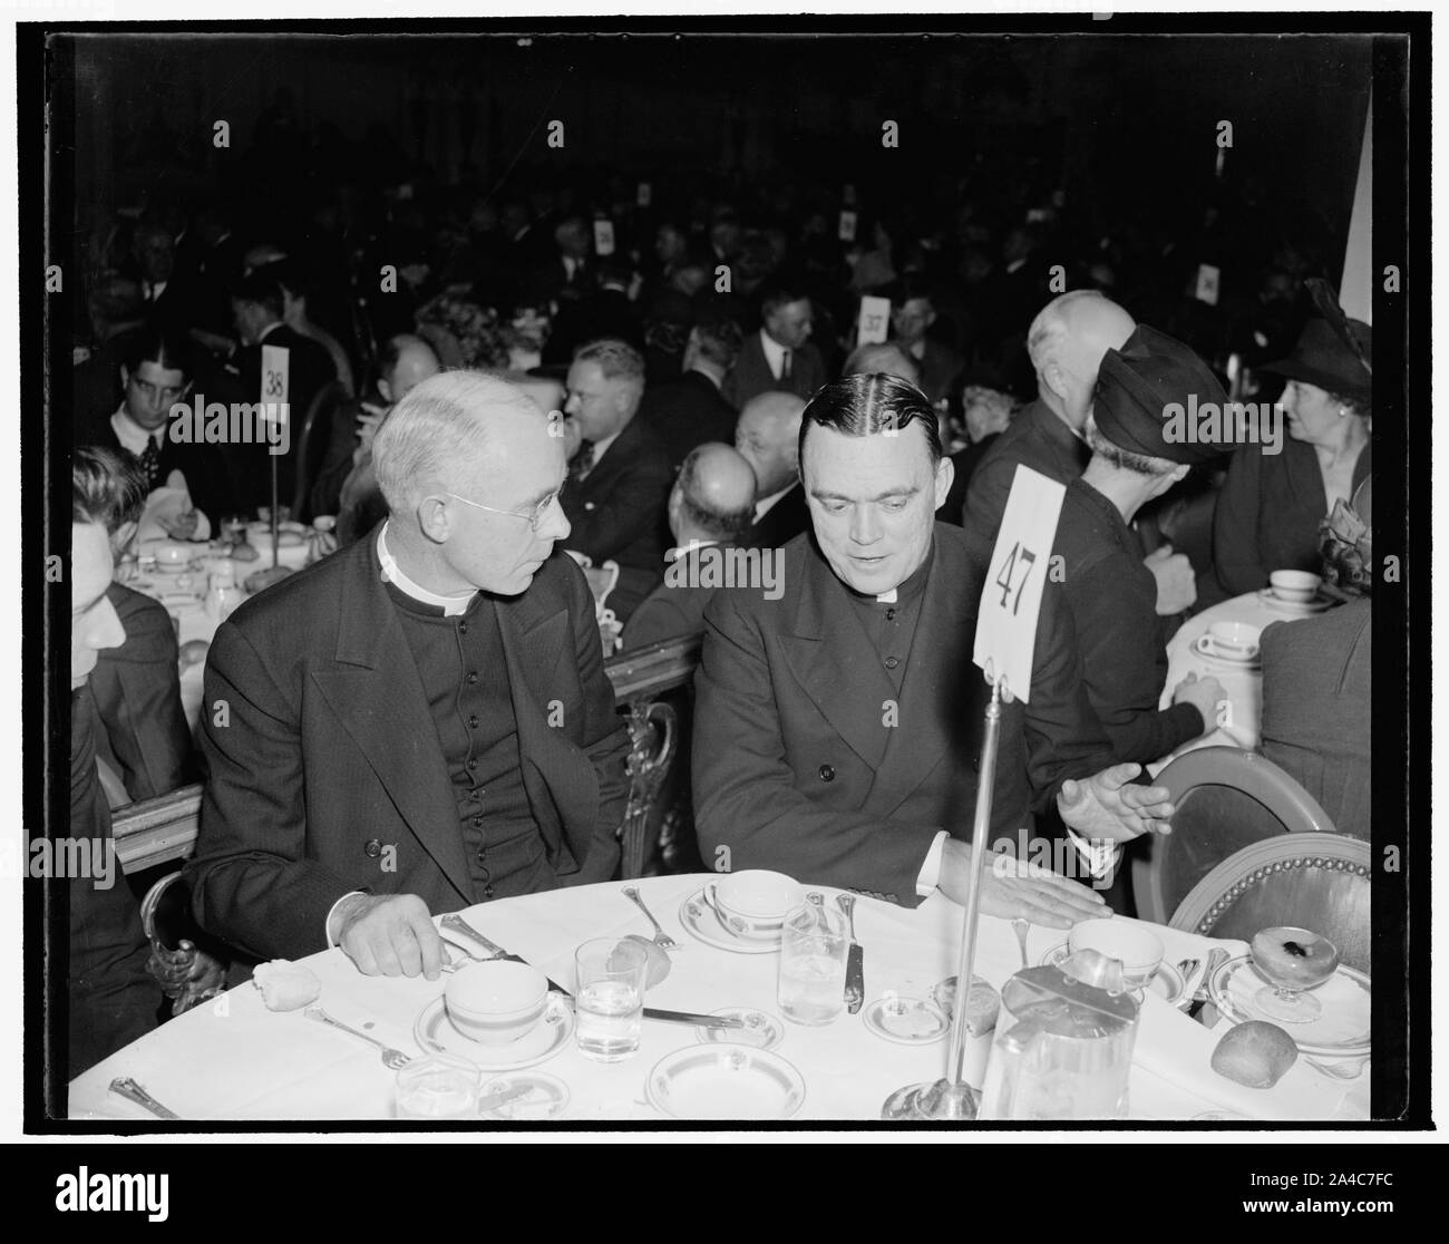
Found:
<path fill-rule="evenodd" d="M 1369 837 L 1374 483 L 1321 523 L 1323 577 L 1349 602 L 1264 631 L 1262 752 L 1340 834 Z"/>

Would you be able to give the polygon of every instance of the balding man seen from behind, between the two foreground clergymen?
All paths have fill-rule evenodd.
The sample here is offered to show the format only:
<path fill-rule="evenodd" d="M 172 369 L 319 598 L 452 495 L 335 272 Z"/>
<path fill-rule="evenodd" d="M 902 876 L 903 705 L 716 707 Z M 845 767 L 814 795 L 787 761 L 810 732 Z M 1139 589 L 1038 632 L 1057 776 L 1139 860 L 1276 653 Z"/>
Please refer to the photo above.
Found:
<path fill-rule="evenodd" d="M 716 589 L 735 586 L 724 583 L 726 558 L 753 515 L 755 473 L 749 463 L 729 445 L 706 444 L 691 451 L 669 493 L 674 534 L 674 548 L 665 554 L 669 567 L 664 583 L 629 619 L 623 634 L 626 650 L 704 629 L 704 606 Z M 758 551 L 753 564 L 761 564 Z"/>

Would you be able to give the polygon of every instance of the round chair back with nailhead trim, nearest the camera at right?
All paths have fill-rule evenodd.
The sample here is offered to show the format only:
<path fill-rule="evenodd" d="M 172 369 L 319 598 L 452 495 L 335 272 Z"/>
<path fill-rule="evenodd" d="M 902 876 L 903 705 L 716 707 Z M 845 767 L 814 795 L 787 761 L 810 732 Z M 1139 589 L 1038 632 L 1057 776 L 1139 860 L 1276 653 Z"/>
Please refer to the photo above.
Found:
<path fill-rule="evenodd" d="M 1248 942 L 1272 925 L 1313 929 L 1339 948 L 1343 963 L 1368 971 L 1371 889 L 1368 842 L 1346 834 L 1279 834 L 1213 868 L 1171 925 Z"/>

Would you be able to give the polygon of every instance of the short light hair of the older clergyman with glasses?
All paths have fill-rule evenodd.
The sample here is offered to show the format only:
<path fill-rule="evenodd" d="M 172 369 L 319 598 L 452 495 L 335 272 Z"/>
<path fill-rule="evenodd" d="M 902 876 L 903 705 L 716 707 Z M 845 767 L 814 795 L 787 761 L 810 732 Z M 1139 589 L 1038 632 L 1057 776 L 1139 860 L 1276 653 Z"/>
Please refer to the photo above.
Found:
<path fill-rule="evenodd" d="M 487 452 L 490 423 L 506 410 L 543 418 L 522 389 L 481 371 L 445 371 L 413 389 L 388 412 L 372 441 L 372 470 L 388 509 L 407 513 L 427 494 L 429 483 L 488 505 L 487 497 L 454 481 Z"/>

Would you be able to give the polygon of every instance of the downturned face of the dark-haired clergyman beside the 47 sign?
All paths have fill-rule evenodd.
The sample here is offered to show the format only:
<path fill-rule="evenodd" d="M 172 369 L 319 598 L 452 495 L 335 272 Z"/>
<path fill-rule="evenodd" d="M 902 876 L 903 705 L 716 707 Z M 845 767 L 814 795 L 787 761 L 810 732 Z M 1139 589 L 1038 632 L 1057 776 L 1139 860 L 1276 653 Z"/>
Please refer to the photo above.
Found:
<path fill-rule="evenodd" d="M 865 596 L 898 587 L 926 561 L 952 465 L 935 467 L 926 432 L 806 434 L 800 476 L 816 541 L 836 576 Z"/>

